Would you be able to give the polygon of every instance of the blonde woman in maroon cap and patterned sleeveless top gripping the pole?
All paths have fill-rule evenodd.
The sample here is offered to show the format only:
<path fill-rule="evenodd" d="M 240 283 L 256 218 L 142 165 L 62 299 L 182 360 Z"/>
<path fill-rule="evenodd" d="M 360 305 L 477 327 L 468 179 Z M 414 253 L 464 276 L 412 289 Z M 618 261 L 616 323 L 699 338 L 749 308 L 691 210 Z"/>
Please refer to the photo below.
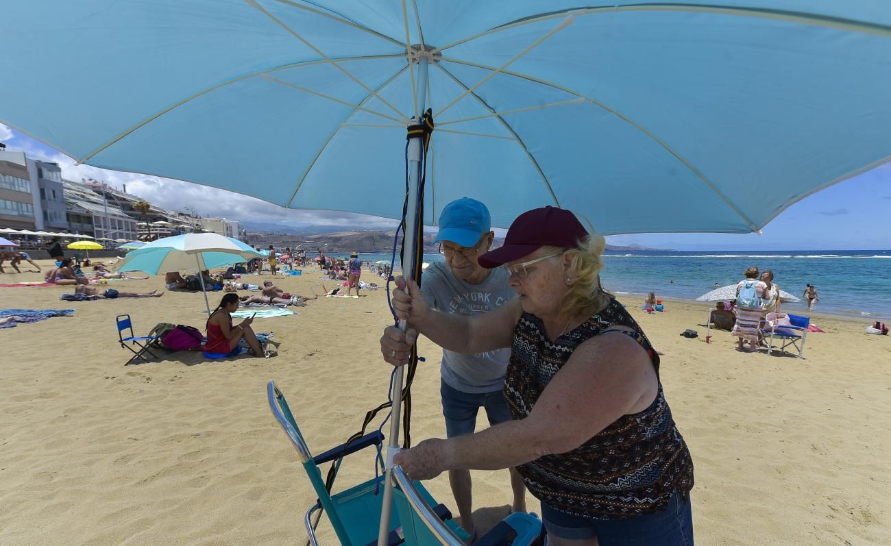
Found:
<path fill-rule="evenodd" d="M 509 304 L 441 313 L 415 283 L 396 280 L 393 305 L 410 328 L 385 330 L 384 359 L 407 363 L 419 333 L 460 353 L 511 347 L 504 395 L 513 420 L 425 440 L 394 461 L 414 479 L 517 467 L 557 546 L 692 544 L 690 452 L 662 391 L 658 353 L 601 287 L 604 247 L 568 210 L 535 208 L 511 224 L 503 247 L 478 258 L 507 269 L 519 294 Z"/>

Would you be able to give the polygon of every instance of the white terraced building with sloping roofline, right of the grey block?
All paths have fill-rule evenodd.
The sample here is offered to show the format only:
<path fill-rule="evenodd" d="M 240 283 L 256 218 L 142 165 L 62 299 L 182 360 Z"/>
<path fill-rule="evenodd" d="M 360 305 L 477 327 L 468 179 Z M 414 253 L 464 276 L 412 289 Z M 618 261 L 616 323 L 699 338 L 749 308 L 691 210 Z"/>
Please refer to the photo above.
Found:
<path fill-rule="evenodd" d="M 136 220 L 117 205 L 107 203 L 100 193 L 86 183 L 63 180 L 65 208 L 72 232 L 93 235 L 96 239 L 135 240 Z"/>

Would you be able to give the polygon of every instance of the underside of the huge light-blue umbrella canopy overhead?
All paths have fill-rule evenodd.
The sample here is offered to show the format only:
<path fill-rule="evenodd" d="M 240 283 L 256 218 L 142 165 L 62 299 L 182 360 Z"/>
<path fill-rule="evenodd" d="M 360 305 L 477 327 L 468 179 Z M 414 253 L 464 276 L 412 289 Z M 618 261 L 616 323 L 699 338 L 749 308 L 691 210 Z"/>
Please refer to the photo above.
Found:
<path fill-rule="evenodd" d="M 604 234 L 757 231 L 891 157 L 887 0 L 468 6 L 9 3 L 0 29 L 29 54 L 0 73 L 78 67 L 61 76 L 84 85 L 3 86 L 0 121 L 96 167 L 401 218 L 423 83 L 426 224 L 468 196 L 496 226 L 552 204 Z"/>

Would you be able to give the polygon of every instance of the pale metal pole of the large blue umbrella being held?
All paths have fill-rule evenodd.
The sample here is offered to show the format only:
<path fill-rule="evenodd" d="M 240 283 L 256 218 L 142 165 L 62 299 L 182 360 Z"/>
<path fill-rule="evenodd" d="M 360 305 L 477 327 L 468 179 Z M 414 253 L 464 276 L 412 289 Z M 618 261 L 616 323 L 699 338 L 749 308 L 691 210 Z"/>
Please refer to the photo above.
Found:
<path fill-rule="evenodd" d="M 427 57 L 418 59 L 418 93 L 417 112 L 422 112 L 426 108 L 427 98 Z M 420 120 L 415 119 L 415 123 Z M 419 243 L 416 240 L 417 230 L 415 229 L 418 222 L 422 218 L 418 217 L 417 197 L 418 197 L 418 164 L 421 161 L 421 146 L 423 139 L 413 138 L 408 144 L 408 208 L 405 216 L 405 236 L 403 238 L 403 257 L 411 257 L 408 264 L 402 265 L 403 276 L 405 279 L 414 278 L 415 267 L 420 264 L 414 263 L 416 254 L 415 246 Z M 399 330 L 407 330 L 408 321 L 399 321 Z M 402 388 L 405 383 L 405 366 L 396 368 L 396 376 L 393 379 L 393 392 L 390 394 L 393 403 L 391 404 L 390 415 L 390 433 L 387 447 L 386 467 L 387 475 L 384 478 L 384 496 L 380 505 L 380 528 L 378 532 L 378 546 L 388 546 L 389 542 L 389 521 L 390 514 L 393 511 L 393 455 L 399 451 L 399 425 L 400 413 L 402 410 Z"/>

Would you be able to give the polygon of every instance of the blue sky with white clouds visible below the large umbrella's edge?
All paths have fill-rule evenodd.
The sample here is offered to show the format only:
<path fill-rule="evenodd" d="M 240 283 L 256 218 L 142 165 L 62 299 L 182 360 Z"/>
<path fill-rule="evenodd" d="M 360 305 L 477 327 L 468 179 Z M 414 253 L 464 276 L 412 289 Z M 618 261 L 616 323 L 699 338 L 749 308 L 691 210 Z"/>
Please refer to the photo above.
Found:
<path fill-rule="evenodd" d="M 161 207 L 195 206 L 201 214 L 292 225 L 356 225 L 391 229 L 394 221 L 335 211 L 290 210 L 243 195 L 192 183 L 85 165 L 0 124 L 0 142 L 9 151 L 56 161 L 70 180 L 92 176 L 135 193 Z M 217 193 L 219 195 L 217 195 Z M 201 208 L 206 206 L 207 208 Z M 642 233 L 609 237 L 611 244 L 678 250 L 825 250 L 891 249 L 887 211 L 891 209 L 891 164 L 876 168 L 798 201 L 764 227 L 763 233 Z M 502 230 L 498 230 L 503 234 Z"/>

